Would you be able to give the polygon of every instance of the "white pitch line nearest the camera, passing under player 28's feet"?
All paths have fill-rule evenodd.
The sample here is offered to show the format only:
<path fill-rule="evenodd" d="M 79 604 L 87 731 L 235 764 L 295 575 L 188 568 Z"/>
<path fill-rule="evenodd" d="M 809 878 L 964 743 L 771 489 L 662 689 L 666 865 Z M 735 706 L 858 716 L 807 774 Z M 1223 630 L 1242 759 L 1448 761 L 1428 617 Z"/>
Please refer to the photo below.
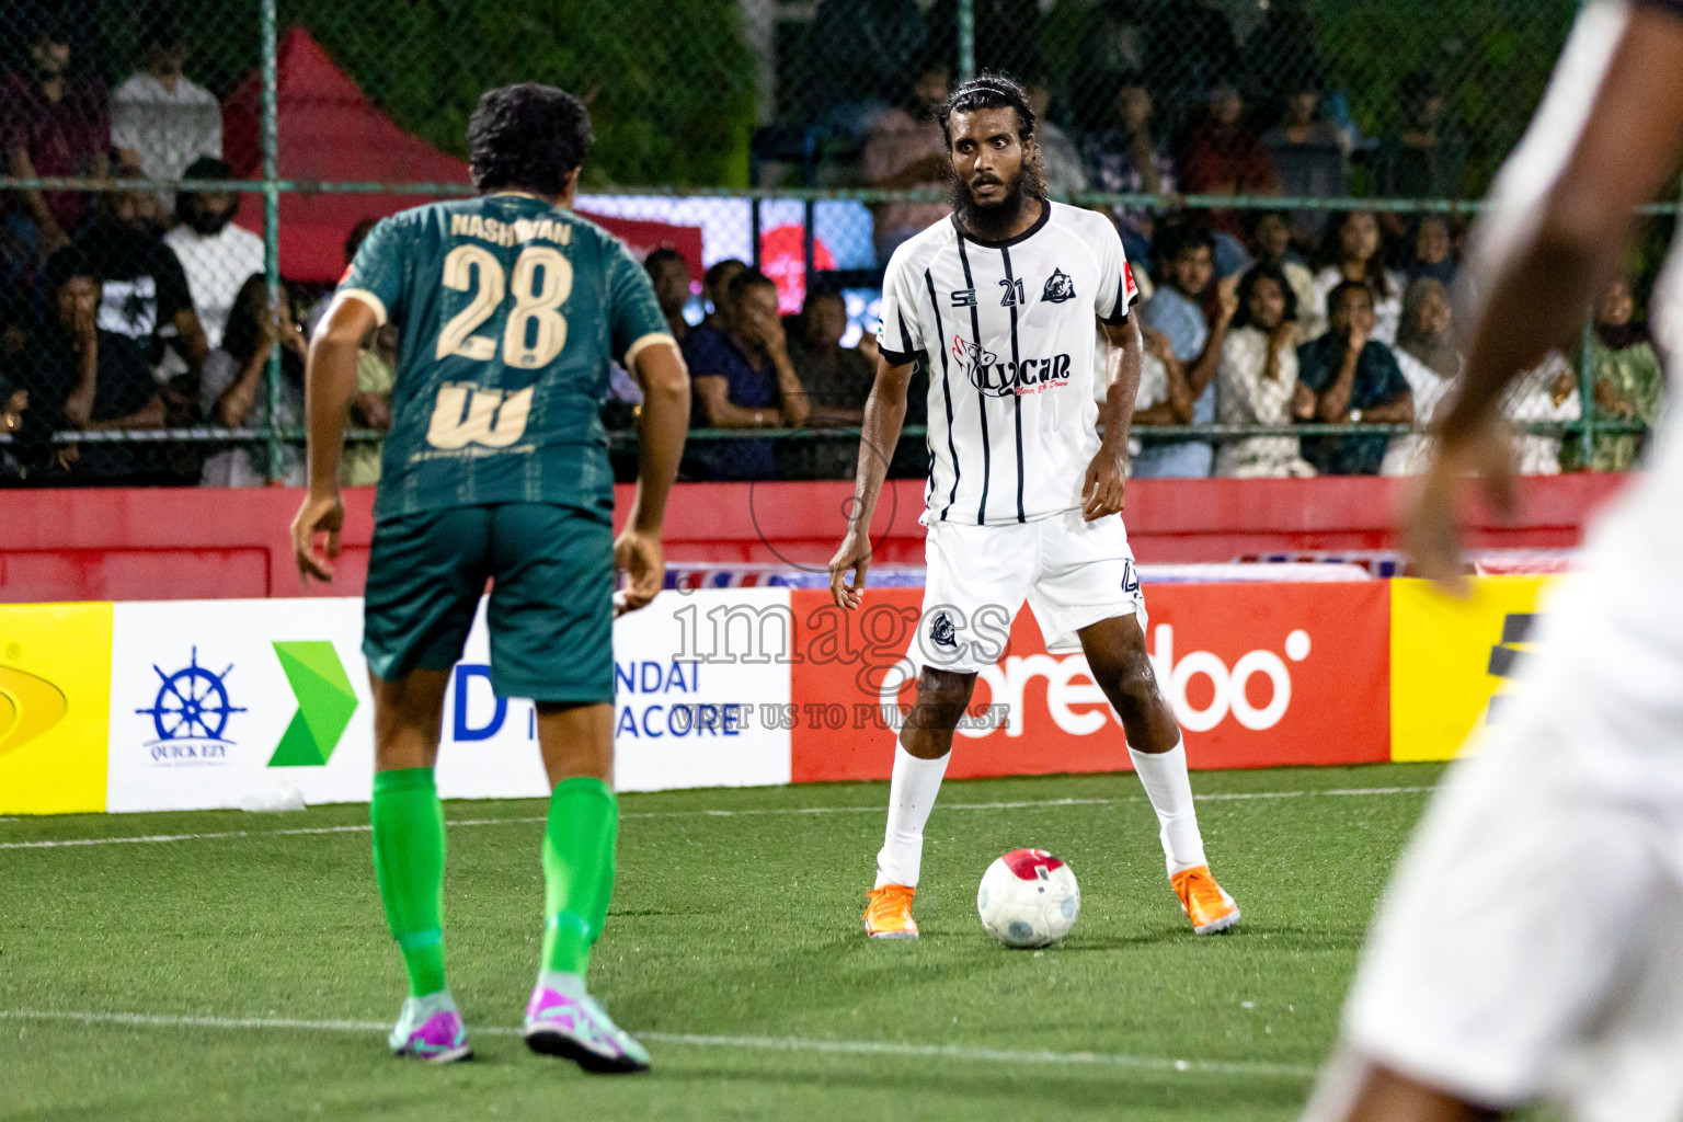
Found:
<path fill-rule="evenodd" d="M 71 1013 L 45 1009 L 0 1009 L 0 1021 L 74 1021 L 77 1024 L 118 1024 L 126 1028 L 215 1028 L 215 1029 L 291 1029 L 303 1033 L 384 1033 L 380 1021 L 310 1021 L 298 1018 L 224 1018 L 170 1016 L 157 1013 Z M 483 1036 L 518 1036 L 520 1029 L 480 1026 Z M 1261 1060 L 1175 1060 L 1168 1056 L 1131 1056 L 1112 1051 L 1022 1051 L 1013 1048 L 978 1048 L 969 1045 L 902 1045 L 879 1040 L 810 1040 L 804 1036 L 717 1036 L 700 1033 L 636 1033 L 656 1045 L 688 1048 L 741 1048 L 751 1051 L 816 1051 L 847 1056 L 897 1056 L 914 1060 L 968 1060 L 980 1063 L 1043 1063 L 1055 1066 L 1099 1066 L 1133 1072 L 1175 1072 L 1178 1075 L 1235 1075 L 1272 1078 L 1313 1078 L 1314 1068 L 1296 1063 Z"/>

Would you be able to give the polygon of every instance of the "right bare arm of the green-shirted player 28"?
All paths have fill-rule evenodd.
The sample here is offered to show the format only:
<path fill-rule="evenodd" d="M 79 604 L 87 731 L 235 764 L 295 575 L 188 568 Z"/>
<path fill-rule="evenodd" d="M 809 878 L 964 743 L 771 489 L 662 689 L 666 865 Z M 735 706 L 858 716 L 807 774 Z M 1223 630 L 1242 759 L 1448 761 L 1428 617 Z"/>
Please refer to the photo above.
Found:
<path fill-rule="evenodd" d="M 690 373 L 678 348 L 653 343 L 638 352 L 631 367 L 643 387 L 643 412 L 638 414 L 636 496 L 626 528 L 614 542 L 614 565 L 629 577 L 628 587 L 614 597 L 616 612 L 636 611 L 660 594 L 666 572 L 660 532 L 690 427 Z"/>

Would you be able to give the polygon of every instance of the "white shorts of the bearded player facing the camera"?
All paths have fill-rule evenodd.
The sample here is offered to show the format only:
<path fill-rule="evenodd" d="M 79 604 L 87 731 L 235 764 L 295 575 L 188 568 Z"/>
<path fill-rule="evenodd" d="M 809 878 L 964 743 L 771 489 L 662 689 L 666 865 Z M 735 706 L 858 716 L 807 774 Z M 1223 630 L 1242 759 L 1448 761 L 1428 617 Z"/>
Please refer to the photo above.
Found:
<path fill-rule="evenodd" d="M 1035 521 L 974 527 L 937 521 L 924 543 L 924 607 L 907 658 L 919 668 L 980 673 L 998 663 L 1023 601 L 1049 651 L 1079 651 L 1082 627 L 1139 616 L 1134 553 L 1119 515 L 1087 521 L 1079 510 Z"/>

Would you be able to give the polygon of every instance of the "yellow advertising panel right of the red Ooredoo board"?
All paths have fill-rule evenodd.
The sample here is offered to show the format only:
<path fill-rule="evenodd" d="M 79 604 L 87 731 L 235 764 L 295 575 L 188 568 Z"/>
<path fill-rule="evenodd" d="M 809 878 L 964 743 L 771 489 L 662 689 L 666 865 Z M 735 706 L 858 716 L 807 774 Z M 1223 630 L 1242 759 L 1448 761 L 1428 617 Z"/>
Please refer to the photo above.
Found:
<path fill-rule="evenodd" d="M 1457 601 L 1390 582 L 1390 759 L 1447 760 L 1525 648 L 1548 577 L 1479 577 Z"/>

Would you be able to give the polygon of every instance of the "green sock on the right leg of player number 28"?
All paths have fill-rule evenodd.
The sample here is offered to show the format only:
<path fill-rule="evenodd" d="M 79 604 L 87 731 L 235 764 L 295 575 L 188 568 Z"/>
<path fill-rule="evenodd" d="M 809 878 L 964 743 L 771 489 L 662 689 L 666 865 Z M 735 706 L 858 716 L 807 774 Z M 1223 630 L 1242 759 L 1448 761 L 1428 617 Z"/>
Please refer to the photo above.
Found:
<path fill-rule="evenodd" d="M 544 969 L 582 976 L 614 892 L 619 804 L 601 779 L 564 779 L 544 831 Z"/>

